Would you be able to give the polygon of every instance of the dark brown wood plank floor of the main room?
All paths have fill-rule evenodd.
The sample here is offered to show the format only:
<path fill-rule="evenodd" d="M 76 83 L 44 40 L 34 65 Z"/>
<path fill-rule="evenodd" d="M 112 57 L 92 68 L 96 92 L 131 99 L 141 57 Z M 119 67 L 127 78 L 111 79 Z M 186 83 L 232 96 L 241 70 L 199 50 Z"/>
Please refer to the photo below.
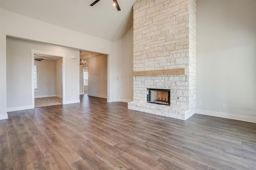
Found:
<path fill-rule="evenodd" d="M 195 114 L 186 121 L 81 95 L 81 103 L 8 113 L 4 169 L 255 169 L 256 124 Z"/>

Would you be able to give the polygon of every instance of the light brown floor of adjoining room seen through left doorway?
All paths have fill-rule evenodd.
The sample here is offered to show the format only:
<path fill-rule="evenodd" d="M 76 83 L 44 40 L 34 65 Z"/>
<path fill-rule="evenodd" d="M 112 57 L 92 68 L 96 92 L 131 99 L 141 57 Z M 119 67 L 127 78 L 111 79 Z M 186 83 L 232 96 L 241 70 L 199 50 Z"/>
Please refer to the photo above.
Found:
<path fill-rule="evenodd" d="M 42 97 L 35 98 L 35 107 L 61 105 L 62 100 L 60 97 Z"/>

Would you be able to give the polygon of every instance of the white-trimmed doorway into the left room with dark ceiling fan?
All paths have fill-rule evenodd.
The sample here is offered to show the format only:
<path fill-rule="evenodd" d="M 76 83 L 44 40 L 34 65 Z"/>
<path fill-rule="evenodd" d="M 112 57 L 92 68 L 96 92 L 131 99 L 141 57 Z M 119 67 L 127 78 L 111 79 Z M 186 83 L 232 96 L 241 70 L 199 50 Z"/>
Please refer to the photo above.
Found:
<path fill-rule="evenodd" d="M 31 50 L 32 54 L 32 104 L 44 107 L 64 104 L 65 55 Z"/>

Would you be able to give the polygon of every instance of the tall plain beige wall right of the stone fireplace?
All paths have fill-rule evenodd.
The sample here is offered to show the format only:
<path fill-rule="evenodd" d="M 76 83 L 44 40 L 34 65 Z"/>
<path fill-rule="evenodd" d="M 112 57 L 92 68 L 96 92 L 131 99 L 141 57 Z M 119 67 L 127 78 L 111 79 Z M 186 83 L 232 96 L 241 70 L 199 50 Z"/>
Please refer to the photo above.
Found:
<path fill-rule="evenodd" d="M 256 122 L 255 3 L 197 1 L 197 113 Z"/>

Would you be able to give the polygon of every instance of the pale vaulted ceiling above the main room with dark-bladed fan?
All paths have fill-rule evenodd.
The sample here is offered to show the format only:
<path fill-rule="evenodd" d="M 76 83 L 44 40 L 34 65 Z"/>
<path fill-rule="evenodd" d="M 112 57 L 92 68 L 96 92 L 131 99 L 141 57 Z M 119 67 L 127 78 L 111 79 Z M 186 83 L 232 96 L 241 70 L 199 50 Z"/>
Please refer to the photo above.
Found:
<path fill-rule="evenodd" d="M 135 0 L 118 0 L 121 11 L 112 0 L 101 0 L 91 7 L 93 1 L 1 0 L 1 8 L 110 41 L 122 38 L 133 24 Z"/>

